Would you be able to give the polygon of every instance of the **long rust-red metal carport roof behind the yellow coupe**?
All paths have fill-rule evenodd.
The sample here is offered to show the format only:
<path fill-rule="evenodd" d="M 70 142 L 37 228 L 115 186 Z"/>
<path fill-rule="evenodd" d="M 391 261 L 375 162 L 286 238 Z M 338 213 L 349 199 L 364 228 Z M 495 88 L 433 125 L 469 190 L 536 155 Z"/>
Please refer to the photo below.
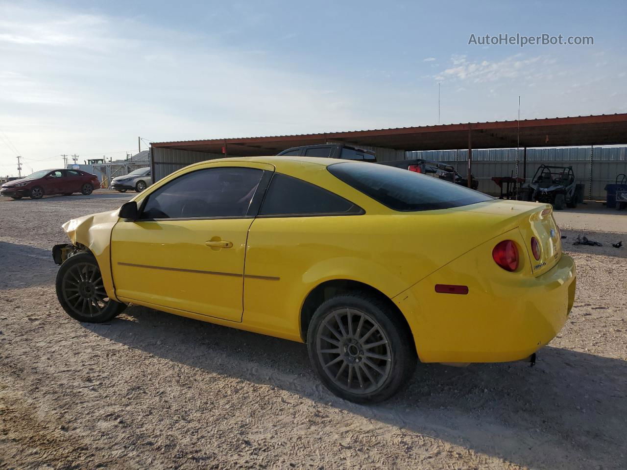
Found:
<path fill-rule="evenodd" d="M 154 142 L 153 147 L 229 155 L 274 155 L 298 145 L 347 142 L 401 150 L 455 150 L 516 147 L 572 147 L 627 144 L 627 113 L 399 127 L 266 137 L 212 138 Z"/>

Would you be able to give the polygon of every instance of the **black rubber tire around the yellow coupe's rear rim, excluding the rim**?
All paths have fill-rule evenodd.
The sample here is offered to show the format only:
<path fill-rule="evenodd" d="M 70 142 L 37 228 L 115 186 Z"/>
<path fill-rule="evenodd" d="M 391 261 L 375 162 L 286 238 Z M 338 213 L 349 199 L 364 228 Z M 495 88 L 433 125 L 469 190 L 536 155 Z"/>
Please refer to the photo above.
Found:
<path fill-rule="evenodd" d="M 379 323 L 388 338 L 389 347 L 391 348 L 391 357 L 393 357 L 392 370 L 384 385 L 371 394 L 352 394 L 340 388 L 329 378 L 320 363 L 317 352 L 317 330 L 320 328 L 322 320 L 324 320 L 325 316 L 327 316 L 330 311 L 340 310 L 342 308 L 354 308 L 355 310 L 371 315 L 372 318 Z M 411 378 L 416 368 L 416 352 L 411 334 L 408 334 L 401 320 L 395 318 L 397 316 L 398 312 L 386 308 L 386 306 L 376 298 L 362 295 L 348 294 L 335 296 L 325 301 L 317 308 L 307 332 L 307 349 L 312 367 L 327 389 L 345 400 L 367 404 L 388 399 L 396 394 L 396 392 L 409 381 L 409 378 Z"/>

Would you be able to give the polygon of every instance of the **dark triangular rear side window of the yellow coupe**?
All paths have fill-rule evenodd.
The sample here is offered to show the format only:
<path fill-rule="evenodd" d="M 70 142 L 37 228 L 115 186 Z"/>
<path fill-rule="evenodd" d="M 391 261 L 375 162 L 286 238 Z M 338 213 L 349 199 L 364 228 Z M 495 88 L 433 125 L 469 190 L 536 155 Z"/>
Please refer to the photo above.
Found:
<path fill-rule="evenodd" d="M 344 197 L 302 179 L 275 173 L 261 206 L 260 216 L 362 214 L 361 207 Z"/>

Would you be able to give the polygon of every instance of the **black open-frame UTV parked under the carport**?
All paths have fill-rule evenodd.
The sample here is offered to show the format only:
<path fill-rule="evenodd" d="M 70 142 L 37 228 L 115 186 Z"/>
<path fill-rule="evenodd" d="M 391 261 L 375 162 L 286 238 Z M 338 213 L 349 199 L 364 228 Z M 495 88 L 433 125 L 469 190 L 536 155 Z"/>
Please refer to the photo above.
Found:
<path fill-rule="evenodd" d="M 583 197 L 583 185 L 576 184 L 572 167 L 540 165 L 525 190 L 529 201 L 548 202 L 558 211 L 577 207 Z"/>

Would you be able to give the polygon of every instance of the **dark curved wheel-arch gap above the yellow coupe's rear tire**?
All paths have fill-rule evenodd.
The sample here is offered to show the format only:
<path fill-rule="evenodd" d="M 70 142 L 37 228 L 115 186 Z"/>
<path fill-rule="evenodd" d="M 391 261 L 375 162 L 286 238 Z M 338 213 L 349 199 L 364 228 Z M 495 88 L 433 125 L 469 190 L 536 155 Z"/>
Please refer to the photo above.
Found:
<path fill-rule="evenodd" d="M 332 296 L 352 293 L 367 294 L 384 303 L 384 305 L 386 305 L 391 312 L 394 312 L 394 315 L 398 315 L 399 320 L 401 320 L 404 328 L 406 328 L 406 331 L 413 339 L 414 336 L 407 318 L 398 305 L 396 305 L 391 298 L 382 293 L 382 291 L 369 284 L 361 281 L 355 281 L 353 279 L 330 279 L 320 283 L 315 286 L 315 288 L 310 290 L 302 303 L 300 308 L 300 337 L 302 338 L 303 343 L 307 343 L 307 330 L 312 318 L 314 317 L 316 309 L 325 300 L 331 298 Z M 412 344 L 415 351 L 416 344 L 413 340 Z"/>

